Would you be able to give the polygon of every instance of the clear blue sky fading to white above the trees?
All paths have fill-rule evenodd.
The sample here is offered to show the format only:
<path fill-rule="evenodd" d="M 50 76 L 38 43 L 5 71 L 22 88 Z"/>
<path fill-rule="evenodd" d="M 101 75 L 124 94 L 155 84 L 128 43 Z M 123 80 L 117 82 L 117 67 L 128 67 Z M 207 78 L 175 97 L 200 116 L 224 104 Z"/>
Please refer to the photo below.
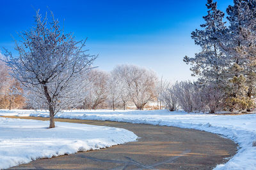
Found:
<path fill-rule="evenodd" d="M 35 9 L 47 6 L 56 18 L 65 19 L 65 31 L 77 40 L 88 37 L 91 54 L 99 54 L 95 66 L 110 71 L 117 64 L 148 67 L 159 76 L 175 81 L 191 79 L 184 55 L 200 49 L 190 38 L 191 31 L 204 22 L 207 0 L 120 0 L 120 1 L 1 1 L 0 46 L 13 50 L 10 34 L 33 25 Z M 232 0 L 219 0 L 225 11 Z"/>

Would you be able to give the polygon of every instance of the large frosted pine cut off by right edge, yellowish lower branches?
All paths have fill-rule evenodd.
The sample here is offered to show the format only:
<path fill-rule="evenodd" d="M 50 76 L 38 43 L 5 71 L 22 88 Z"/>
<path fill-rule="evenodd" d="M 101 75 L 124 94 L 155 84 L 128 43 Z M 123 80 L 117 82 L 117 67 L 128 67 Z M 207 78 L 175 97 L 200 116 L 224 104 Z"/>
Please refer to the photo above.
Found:
<path fill-rule="evenodd" d="M 228 56 L 228 63 L 230 63 L 227 74 L 225 74 L 227 76 L 226 80 L 229 81 L 228 88 L 232 87 L 232 91 L 237 92 L 236 94 L 230 93 L 231 96 L 228 96 L 227 99 L 228 101 L 232 99 L 230 106 L 237 105 L 235 104 L 237 101 L 238 103 L 247 103 L 246 109 L 250 111 L 253 108 L 252 97 L 255 95 L 256 83 L 256 1 L 234 0 L 234 5 L 228 6 L 227 14 L 230 26 L 225 36 L 223 36 L 220 46 Z M 241 69 L 234 69 L 235 67 Z M 231 72 L 228 73 L 228 71 Z M 246 92 L 241 97 L 241 89 L 239 88 L 243 86 L 245 86 Z M 242 98 L 243 101 L 241 101 Z M 239 110 L 244 109 L 243 104 L 238 105 L 241 106 Z"/>

